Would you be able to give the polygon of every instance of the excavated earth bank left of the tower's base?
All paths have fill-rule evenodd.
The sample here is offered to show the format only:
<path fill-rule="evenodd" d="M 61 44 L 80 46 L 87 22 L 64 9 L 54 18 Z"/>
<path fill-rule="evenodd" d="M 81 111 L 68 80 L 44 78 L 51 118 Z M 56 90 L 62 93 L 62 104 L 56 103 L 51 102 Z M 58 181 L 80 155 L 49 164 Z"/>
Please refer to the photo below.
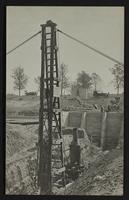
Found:
<path fill-rule="evenodd" d="M 28 159 L 36 157 L 37 128 L 38 125 L 6 124 L 6 194 L 33 192 Z"/>

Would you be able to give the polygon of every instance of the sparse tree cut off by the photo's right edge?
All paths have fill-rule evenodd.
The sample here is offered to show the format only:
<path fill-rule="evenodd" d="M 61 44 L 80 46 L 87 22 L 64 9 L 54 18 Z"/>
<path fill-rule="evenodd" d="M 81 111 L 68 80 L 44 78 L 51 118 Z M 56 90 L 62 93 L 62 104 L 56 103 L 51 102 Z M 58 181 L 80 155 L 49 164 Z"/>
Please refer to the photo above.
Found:
<path fill-rule="evenodd" d="M 114 87 L 117 91 L 117 95 L 119 95 L 120 89 L 124 87 L 124 67 L 120 64 L 115 64 L 110 70 L 114 76 Z"/>

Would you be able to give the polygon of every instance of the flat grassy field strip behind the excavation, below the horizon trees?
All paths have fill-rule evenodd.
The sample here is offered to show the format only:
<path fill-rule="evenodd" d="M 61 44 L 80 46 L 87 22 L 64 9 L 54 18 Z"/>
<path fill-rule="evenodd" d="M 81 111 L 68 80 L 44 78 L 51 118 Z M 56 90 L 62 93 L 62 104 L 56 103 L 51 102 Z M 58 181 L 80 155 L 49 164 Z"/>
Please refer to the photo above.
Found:
<path fill-rule="evenodd" d="M 110 101 L 116 95 L 110 95 L 109 97 L 92 97 L 85 101 L 78 100 L 73 97 L 64 97 L 62 99 L 63 109 L 69 109 L 69 107 L 78 110 L 78 109 L 88 109 L 94 110 L 93 104 L 96 104 L 98 108 L 103 105 L 107 108 L 107 105 L 110 104 Z M 7 95 L 6 98 L 6 117 L 17 117 L 21 118 L 31 116 L 32 118 L 38 117 L 40 106 L 39 96 L 10 96 Z M 120 109 L 123 110 L 123 97 L 120 98 Z"/>

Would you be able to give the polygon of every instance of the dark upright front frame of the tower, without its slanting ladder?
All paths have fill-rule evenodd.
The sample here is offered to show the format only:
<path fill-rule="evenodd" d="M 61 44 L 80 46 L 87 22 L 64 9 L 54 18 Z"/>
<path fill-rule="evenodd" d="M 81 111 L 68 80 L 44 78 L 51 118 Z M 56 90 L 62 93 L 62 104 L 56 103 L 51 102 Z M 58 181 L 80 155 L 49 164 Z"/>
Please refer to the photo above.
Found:
<path fill-rule="evenodd" d="M 41 195 L 52 194 L 52 145 L 53 145 L 53 90 L 55 73 L 56 24 L 47 21 L 42 27 L 41 80 L 39 113 L 39 173 Z M 49 44 L 48 44 L 49 42 Z M 48 52 L 50 48 L 50 52 Z M 50 57 L 49 57 L 50 55 Z M 49 62 L 50 61 L 50 62 Z"/>

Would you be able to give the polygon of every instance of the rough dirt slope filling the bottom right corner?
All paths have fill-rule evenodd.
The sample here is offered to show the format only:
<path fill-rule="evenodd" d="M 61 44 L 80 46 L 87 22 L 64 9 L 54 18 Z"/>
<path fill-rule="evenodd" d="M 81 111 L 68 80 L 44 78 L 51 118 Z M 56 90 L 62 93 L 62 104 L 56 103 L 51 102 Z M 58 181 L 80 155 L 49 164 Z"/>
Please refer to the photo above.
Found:
<path fill-rule="evenodd" d="M 98 156 L 92 166 L 66 189 L 65 195 L 123 195 L 121 150 Z"/>

